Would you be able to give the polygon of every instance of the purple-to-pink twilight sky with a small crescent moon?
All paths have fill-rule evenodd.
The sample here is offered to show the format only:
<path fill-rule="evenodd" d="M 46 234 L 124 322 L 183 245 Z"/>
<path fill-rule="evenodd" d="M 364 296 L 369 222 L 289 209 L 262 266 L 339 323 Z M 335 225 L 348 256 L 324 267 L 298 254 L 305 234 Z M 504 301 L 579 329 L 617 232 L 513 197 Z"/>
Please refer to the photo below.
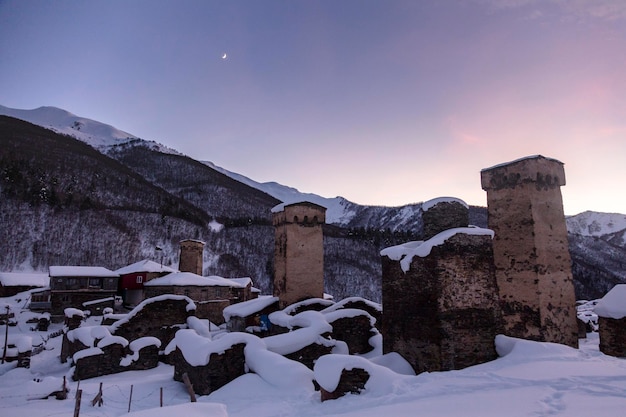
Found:
<path fill-rule="evenodd" d="M 626 213 L 625 51 L 623 0 L 0 0 L 0 104 L 367 205 L 541 154 Z"/>

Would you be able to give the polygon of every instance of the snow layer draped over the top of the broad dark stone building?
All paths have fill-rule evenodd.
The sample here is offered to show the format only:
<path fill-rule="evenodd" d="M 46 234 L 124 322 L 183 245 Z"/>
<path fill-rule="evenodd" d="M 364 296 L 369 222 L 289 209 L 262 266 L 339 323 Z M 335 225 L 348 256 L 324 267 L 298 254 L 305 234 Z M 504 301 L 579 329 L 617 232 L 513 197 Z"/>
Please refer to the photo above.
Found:
<path fill-rule="evenodd" d="M 394 261 L 400 261 L 402 270 L 407 272 L 411 267 L 411 262 L 413 261 L 414 256 L 426 257 L 430 255 L 430 251 L 433 247 L 443 245 L 448 239 L 461 233 L 467 235 L 485 235 L 493 238 L 493 230 L 491 229 L 483 229 L 480 227 L 457 227 L 444 230 L 427 241 L 418 240 L 385 248 L 380 251 L 380 255 L 387 256 L 389 259 Z"/>

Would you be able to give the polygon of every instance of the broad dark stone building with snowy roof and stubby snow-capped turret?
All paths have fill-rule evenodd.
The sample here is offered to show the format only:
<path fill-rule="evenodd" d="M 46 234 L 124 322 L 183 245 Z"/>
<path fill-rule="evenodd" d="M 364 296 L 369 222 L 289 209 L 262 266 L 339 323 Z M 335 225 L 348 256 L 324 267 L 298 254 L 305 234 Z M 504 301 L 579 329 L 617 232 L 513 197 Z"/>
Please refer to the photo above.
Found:
<path fill-rule="evenodd" d="M 426 202 L 423 210 L 432 236 L 381 251 L 383 352 L 400 353 L 416 373 L 493 360 L 501 331 L 493 232 L 451 216 L 468 210 L 458 199 Z"/>

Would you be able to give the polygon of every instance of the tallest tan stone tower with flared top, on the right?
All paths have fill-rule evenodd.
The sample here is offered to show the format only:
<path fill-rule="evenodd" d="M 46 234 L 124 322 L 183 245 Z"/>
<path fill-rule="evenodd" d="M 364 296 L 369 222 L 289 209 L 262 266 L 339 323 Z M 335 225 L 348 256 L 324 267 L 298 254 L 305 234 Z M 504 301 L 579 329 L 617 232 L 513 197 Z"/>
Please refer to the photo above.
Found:
<path fill-rule="evenodd" d="M 578 347 L 561 198 L 563 163 L 530 156 L 481 171 L 505 333 Z"/>

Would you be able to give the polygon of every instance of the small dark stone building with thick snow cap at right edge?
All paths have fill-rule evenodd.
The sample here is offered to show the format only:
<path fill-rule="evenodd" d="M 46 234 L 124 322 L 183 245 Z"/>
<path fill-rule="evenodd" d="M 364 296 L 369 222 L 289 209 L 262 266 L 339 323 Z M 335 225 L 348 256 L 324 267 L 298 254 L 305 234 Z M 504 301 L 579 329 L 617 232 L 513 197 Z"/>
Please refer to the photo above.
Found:
<path fill-rule="evenodd" d="M 596 304 L 600 352 L 626 357 L 626 284 L 613 287 Z"/>

